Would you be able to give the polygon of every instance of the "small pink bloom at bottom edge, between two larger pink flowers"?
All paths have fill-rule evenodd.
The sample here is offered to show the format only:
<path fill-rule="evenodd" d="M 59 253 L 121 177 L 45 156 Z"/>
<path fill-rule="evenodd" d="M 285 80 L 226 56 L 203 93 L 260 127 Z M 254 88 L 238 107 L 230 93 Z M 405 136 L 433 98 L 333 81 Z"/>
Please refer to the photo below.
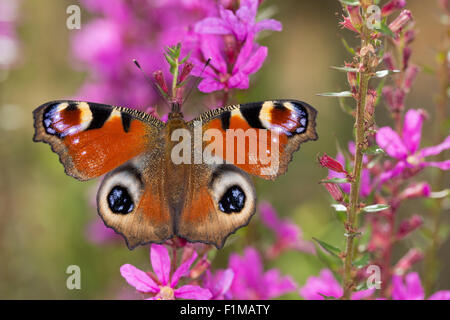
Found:
<path fill-rule="evenodd" d="M 229 290 L 233 278 L 234 272 L 231 269 L 217 270 L 214 274 L 206 270 L 203 286 L 211 292 L 211 300 L 230 299 Z"/>

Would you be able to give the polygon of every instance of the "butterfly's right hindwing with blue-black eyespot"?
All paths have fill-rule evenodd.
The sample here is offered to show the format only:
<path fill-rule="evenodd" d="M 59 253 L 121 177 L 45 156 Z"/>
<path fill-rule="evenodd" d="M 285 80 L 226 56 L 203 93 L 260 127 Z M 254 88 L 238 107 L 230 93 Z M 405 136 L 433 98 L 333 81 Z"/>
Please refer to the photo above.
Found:
<path fill-rule="evenodd" d="M 222 248 L 256 210 L 250 176 L 233 165 L 193 165 L 184 208 L 175 220 L 178 236 Z"/>

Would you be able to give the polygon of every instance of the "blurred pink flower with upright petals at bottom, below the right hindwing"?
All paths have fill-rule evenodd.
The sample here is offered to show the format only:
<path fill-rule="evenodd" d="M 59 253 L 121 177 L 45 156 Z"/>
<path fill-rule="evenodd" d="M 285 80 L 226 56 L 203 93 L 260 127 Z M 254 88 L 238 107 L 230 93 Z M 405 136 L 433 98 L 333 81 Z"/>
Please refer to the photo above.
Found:
<path fill-rule="evenodd" d="M 244 250 L 244 256 L 233 253 L 229 268 L 234 272 L 231 294 L 234 299 L 267 300 L 292 292 L 297 285 L 289 276 L 281 276 L 277 269 L 266 272 L 259 253 L 251 247 Z"/>

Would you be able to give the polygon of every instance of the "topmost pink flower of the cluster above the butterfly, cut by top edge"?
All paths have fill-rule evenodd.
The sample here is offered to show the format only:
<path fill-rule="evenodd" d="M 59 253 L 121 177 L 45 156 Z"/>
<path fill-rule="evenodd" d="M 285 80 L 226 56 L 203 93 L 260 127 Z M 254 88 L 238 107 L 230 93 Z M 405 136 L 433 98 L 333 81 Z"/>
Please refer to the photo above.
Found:
<path fill-rule="evenodd" d="M 262 30 L 281 31 L 282 25 L 277 20 L 268 19 L 255 22 L 258 5 L 258 0 L 241 0 L 240 8 L 236 13 L 220 5 L 220 18 L 205 18 L 195 25 L 194 30 L 202 34 L 232 34 L 240 42 L 245 41 L 249 35 L 257 34 Z"/>

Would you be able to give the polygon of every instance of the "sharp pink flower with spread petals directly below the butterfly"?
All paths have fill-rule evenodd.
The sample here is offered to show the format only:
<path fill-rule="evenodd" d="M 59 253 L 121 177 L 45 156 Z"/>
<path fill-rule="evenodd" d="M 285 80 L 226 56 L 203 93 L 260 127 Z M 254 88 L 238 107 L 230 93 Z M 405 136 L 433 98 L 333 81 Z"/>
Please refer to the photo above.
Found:
<path fill-rule="evenodd" d="M 150 300 L 173 300 L 175 298 L 208 300 L 212 297 L 208 289 L 197 285 L 184 285 L 176 288 L 180 278 L 189 274 L 189 269 L 196 258 L 197 253 L 194 251 L 192 256 L 184 261 L 170 276 L 171 261 L 166 247 L 152 244 L 150 259 L 154 275 L 139 270 L 131 264 L 124 264 L 120 267 L 120 273 L 136 290 L 154 294 Z"/>

